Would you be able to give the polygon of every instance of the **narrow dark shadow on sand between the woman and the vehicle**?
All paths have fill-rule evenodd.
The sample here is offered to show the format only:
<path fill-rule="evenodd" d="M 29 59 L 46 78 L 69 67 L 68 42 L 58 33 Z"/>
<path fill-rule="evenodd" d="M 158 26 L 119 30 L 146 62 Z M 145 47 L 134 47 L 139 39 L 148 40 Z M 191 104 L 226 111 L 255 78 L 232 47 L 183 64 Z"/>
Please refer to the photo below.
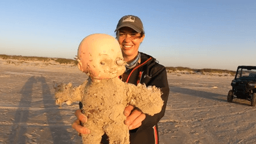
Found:
<path fill-rule="evenodd" d="M 195 97 L 202 97 L 205 99 L 212 99 L 212 100 L 219 100 L 221 102 L 227 102 L 227 100 L 223 100 L 217 97 L 227 97 L 227 95 L 220 95 L 218 93 L 211 93 L 211 92 L 204 92 L 204 91 L 199 91 L 199 90 L 191 90 L 188 88 L 180 88 L 177 86 L 170 86 L 170 92 L 174 92 L 174 93 L 183 93 L 186 95 L 192 95 Z"/>

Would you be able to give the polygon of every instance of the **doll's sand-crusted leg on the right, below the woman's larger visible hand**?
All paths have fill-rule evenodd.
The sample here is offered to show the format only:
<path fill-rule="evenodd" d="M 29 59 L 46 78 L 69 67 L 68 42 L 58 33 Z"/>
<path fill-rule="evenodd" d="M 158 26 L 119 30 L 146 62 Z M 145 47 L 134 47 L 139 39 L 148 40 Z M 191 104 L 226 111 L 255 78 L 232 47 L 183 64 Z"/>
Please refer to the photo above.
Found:
<path fill-rule="evenodd" d="M 109 124 L 106 129 L 109 144 L 129 144 L 129 129 L 124 122 Z"/>

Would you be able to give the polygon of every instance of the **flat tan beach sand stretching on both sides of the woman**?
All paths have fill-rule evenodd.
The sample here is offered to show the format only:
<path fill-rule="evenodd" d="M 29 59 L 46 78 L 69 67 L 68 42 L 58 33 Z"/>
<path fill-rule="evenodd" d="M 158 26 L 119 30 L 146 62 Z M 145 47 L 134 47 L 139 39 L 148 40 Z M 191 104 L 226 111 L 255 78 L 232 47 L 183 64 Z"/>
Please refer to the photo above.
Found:
<path fill-rule="evenodd" d="M 255 108 L 247 100 L 227 102 L 233 78 L 168 73 L 160 143 L 256 143 Z M 71 127 L 79 106 L 56 106 L 52 81 L 78 86 L 85 79 L 72 65 L 0 59 L 0 144 L 82 143 Z"/>

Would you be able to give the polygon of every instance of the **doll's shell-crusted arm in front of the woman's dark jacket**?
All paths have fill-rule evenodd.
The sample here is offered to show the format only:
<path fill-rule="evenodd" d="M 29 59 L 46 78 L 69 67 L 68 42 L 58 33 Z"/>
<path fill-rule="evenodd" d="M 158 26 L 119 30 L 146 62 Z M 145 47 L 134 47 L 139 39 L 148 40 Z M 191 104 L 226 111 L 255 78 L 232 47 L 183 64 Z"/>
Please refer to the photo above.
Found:
<path fill-rule="evenodd" d="M 147 87 L 145 84 L 139 83 L 134 89 L 132 90 L 131 105 L 151 116 L 161 111 L 163 100 L 159 88 L 156 88 L 156 86 Z"/>

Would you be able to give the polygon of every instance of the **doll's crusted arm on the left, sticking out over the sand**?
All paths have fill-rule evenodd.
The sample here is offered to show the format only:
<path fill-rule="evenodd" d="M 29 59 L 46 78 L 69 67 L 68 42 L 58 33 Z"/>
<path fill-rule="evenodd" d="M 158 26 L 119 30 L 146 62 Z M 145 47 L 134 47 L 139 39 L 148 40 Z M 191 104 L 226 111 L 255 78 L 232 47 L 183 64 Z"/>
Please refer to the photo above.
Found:
<path fill-rule="evenodd" d="M 75 87 L 72 83 L 58 84 L 54 82 L 53 87 L 55 89 L 54 95 L 56 104 L 61 106 L 63 102 L 66 102 L 66 104 L 70 105 L 73 102 L 81 101 L 86 83 L 87 81 Z"/>

